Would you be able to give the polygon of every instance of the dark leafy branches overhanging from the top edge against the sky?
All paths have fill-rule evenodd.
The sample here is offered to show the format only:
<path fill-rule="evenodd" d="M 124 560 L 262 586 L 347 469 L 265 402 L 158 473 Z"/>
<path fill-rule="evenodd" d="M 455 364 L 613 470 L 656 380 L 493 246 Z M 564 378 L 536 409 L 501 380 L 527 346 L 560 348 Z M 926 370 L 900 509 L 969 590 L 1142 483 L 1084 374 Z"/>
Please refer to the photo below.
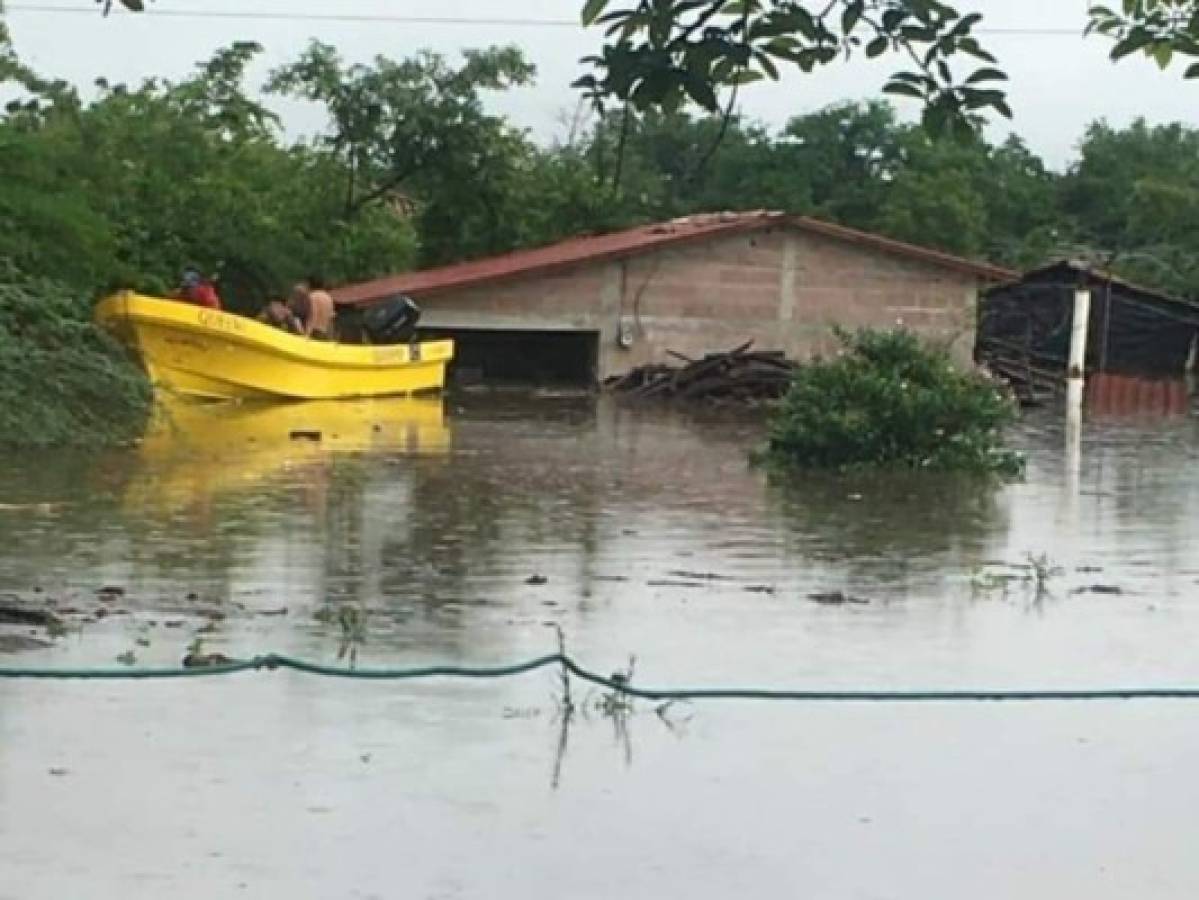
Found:
<path fill-rule="evenodd" d="M 583 0 L 584 25 L 605 28 L 577 85 L 594 102 L 638 109 L 698 103 L 715 113 L 718 91 L 777 79 L 784 66 L 812 72 L 855 54 L 906 64 L 882 91 L 924 105 L 934 132 L 969 131 L 978 113 L 1011 117 L 998 62 L 977 40 L 982 14 L 940 0 Z M 1199 58 L 1199 0 L 1123 0 L 1089 6 L 1087 32 L 1110 37 L 1111 59 L 1134 53 L 1162 67 Z M 966 64 L 954 71 L 958 64 Z M 1185 77 L 1199 77 L 1192 62 Z M 733 101 L 729 102 L 729 109 Z"/>

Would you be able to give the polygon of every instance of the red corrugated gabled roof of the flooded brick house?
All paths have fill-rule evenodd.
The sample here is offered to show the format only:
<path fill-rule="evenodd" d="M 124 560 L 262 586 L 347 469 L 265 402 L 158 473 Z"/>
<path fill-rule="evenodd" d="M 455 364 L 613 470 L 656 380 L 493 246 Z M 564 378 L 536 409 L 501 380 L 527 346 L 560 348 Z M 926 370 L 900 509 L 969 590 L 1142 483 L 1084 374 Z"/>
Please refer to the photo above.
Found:
<path fill-rule="evenodd" d="M 372 303 L 396 294 L 406 294 L 417 298 L 427 297 L 441 291 L 472 288 L 520 276 L 548 274 L 585 262 L 635 256 L 663 246 L 691 243 L 710 237 L 758 231 L 779 225 L 964 272 L 988 282 L 1006 282 L 1019 277 L 1018 273 L 1006 268 L 975 262 L 927 247 L 892 241 L 868 231 L 857 231 L 806 216 L 764 211 L 688 216 L 673 222 L 643 225 L 608 235 L 572 237 L 548 247 L 517 250 L 501 256 L 489 256 L 418 272 L 403 272 L 388 278 L 345 285 L 335 290 L 333 297 L 338 303 L 347 304 Z"/>

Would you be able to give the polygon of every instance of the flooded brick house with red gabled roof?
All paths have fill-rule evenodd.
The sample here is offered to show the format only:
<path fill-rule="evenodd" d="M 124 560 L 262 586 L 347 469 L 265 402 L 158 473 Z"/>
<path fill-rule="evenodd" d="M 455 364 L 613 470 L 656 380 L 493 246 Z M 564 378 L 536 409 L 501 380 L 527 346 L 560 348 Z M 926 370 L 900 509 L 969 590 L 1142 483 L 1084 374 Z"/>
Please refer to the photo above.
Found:
<path fill-rule="evenodd" d="M 689 216 L 406 272 L 335 291 L 408 295 L 422 333 L 458 342 L 459 374 L 594 382 L 671 354 L 753 340 L 808 358 L 832 326 L 897 324 L 969 364 L 980 291 L 1013 272 L 779 212 Z"/>

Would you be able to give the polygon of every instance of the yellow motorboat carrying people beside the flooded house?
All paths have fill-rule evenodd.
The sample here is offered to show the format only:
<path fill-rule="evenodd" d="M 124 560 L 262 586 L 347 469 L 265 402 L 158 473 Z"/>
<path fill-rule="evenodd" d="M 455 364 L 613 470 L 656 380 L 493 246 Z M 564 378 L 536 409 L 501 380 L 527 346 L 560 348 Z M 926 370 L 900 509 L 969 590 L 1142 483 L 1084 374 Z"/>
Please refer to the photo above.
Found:
<path fill-rule="evenodd" d="M 132 346 L 151 381 L 219 399 L 336 400 L 438 391 L 453 342 L 362 346 L 289 334 L 233 313 L 121 291 L 96 321 Z"/>

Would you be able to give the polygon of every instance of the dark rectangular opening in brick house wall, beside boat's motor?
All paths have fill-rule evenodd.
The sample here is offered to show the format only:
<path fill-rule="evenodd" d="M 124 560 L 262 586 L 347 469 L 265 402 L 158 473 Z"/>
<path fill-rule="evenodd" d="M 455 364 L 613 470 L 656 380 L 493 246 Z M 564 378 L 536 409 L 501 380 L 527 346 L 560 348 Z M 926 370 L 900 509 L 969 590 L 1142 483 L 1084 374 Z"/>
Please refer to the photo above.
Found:
<path fill-rule="evenodd" d="M 422 340 L 456 343 L 450 379 L 456 383 L 596 383 L 600 332 L 421 328 Z"/>

